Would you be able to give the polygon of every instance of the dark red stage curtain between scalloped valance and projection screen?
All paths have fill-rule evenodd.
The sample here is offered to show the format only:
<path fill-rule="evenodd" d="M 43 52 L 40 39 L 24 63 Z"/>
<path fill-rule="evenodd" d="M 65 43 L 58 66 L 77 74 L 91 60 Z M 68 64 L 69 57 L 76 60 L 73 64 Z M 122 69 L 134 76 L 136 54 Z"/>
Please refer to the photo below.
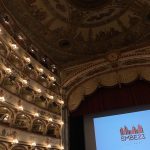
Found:
<path fill-rule="evenodd" d="M 150 83 L 138 80 L 127 85 L 102 87 L 82 101 L 72 116 L 84 116 L 99 112 L 150 104 Z"/>

